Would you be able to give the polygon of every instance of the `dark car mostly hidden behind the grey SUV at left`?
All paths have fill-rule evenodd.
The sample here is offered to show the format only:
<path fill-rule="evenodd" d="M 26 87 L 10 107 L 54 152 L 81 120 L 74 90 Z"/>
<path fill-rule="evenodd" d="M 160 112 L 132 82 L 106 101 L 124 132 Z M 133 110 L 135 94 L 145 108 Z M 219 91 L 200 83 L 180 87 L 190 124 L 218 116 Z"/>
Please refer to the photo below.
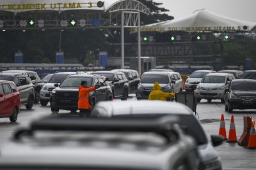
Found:
<path fill-rule="evenodd" d="M 39 103 L 40 101 L 40 90 L 45 85 L 45 83 L 40 79 L 38 74 L 35 71 L 29 70 L 6 70 L 2 72 L 9 72 L 9 73 L 27 73 L 30 80 L 32 81 L 33 85 L 35 85 L 35 99 L 34 103 Z"/>

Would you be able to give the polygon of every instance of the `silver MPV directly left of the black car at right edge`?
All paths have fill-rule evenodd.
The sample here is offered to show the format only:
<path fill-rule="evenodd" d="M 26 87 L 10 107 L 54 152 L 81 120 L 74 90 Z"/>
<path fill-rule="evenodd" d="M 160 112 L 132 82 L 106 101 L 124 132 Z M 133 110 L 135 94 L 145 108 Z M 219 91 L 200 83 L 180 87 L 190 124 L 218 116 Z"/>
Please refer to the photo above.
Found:
<path fill-rule="evenodd" d="M 228 88 L 228 83 L 236 79 L 234 74 L 229 73 L 210 73 L 197 85 L 195 97 L 199 103 L 201 99 L 207 99 L 211 102 L 212 99 L 220 99 L 224 103 L 225 89 Z"/>

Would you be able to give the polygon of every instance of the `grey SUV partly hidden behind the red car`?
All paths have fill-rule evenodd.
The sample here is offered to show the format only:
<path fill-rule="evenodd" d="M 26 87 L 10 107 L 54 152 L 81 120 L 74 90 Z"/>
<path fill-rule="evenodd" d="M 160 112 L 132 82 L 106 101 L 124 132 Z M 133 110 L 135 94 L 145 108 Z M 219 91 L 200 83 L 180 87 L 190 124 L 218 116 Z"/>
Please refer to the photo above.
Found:
<path fill-rule="evenodd" d="M 27 73 L 0 73 L 0 80 L 13 81 L 20 92 L 20 104 L 33 108 L 35 99 L 35 85 L 32 84 Z"/>

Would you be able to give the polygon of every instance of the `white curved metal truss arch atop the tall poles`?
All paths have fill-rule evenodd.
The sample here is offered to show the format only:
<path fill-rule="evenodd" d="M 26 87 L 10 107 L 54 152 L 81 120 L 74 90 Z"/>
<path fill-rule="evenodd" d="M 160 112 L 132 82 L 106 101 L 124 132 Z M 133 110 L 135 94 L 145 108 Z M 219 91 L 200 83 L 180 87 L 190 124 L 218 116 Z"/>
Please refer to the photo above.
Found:
<path fill-rule="evenodd" d="M 117 1 L 116 3 L 109 6 L 106 11 L 109 13 L 117 11 L 138 11 L 150 15 L 150 10 L 147 8 L 147 6 L 135 0 Z"/>

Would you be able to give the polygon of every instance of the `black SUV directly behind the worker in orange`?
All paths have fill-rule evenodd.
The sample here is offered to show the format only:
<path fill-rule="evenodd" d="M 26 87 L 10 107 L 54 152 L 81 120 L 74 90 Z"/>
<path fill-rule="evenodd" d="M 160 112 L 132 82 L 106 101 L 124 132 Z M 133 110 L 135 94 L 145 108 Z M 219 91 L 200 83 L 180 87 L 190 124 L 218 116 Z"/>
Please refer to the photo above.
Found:
<path fill-rule="evenodd" d="M 113 95 L 108 81 L 104 82 L 106 77 L 99 74 L 71 74 L 67 76 L 61 83 L 54 84 L 55 88 L 51 92 L 50 105 L 52 113 L 58 113 L 59 110 L 70 110 L 76 112 L 78 109 L 78 87 L 81 81 L 87 81 L 88 87 L 93 85 L 101 85 L 99 89 L 90 92 L 90 105 L 92 109 L 95 103 L 99 101 L 111 101 Z"/>

